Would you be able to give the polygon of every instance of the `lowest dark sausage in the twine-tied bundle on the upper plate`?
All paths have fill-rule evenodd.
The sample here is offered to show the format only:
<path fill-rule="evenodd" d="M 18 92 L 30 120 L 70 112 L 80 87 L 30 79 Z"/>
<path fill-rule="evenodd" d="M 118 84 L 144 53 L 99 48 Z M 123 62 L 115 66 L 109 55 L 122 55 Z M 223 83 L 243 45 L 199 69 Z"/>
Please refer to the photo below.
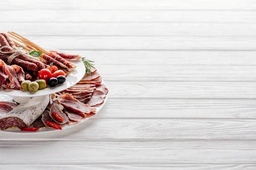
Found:
<path fill-rule="evenodd" d="M 0 59 L 4 62 L 8 62 L 9 55 L 0 54 Z M 35 63 L 24 61 L 22 59 L 15 58 L 12 60 L 11 64 L 19 65 L 21 68 L 26 68 L 29 71 L 39 71 L 38 66 Z"/>

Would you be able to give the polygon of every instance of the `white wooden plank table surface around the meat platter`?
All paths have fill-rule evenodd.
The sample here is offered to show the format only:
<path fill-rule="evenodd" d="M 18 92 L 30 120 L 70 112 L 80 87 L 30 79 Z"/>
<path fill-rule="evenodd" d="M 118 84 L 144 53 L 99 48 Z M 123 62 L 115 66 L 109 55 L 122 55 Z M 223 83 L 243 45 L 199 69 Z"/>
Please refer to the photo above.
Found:
<path fill-rule="evenodd" d="M 256 169 L 256 1 L 0 0 L 8 30 L 94 60 L 110 92 L 69 130 L 0 133 L 0 170 Z"/>

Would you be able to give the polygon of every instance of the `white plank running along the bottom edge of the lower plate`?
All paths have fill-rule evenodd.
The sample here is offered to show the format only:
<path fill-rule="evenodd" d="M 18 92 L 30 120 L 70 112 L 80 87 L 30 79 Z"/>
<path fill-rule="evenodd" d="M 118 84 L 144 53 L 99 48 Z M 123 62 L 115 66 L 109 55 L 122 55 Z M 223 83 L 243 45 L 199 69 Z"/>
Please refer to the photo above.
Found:
<path fill-rule="evenodd" d="M 5 132 L 0 141 L 254 141 L 256 119 L 90 119 L 54 133 Z"/>

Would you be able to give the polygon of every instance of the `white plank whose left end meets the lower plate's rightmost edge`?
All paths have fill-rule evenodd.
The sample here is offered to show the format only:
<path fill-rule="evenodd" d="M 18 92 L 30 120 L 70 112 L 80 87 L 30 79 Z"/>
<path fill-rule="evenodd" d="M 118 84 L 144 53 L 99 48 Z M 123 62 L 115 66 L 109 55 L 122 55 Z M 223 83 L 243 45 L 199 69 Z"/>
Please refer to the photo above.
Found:
<path fill-rule="evenodd" d="M 111 99 L 255 99 L 255 82 L 111 82 Z"/>

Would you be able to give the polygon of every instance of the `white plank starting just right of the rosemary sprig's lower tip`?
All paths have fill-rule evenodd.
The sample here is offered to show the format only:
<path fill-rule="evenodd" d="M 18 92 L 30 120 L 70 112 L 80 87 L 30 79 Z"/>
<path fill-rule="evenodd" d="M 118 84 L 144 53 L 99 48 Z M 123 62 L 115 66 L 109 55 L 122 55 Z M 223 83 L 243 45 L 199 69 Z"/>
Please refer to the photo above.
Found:
<path fill-rule="evenodd" d="M 256 81 L 254 65 L 171 65 L 168 62 L 165 64 L 96 65 L 96 68 L 106 81 Z"/>

